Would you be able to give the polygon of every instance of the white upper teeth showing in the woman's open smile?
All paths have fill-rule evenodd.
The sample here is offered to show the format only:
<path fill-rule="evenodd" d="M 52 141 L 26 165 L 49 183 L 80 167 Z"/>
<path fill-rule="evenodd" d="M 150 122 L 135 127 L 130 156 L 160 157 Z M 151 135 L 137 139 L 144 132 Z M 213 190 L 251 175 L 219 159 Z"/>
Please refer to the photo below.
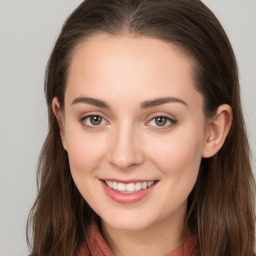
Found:
<path fill-rule="evenodd" d="M 108 185 L 108 187 L 117 190 L 119 192 L 124 192 L 124 193 L 132 193 L 136 191 L 140 191 L 146 188 L 151 187 L 154 184 L 154 181 L 149 181 L 149 182 L 136 182 L 136 183 L 129 183 L 129 184 L 124 184 L 120 182 L 115 182 L 115 181 L 105 181 L 105 183 Z"/>

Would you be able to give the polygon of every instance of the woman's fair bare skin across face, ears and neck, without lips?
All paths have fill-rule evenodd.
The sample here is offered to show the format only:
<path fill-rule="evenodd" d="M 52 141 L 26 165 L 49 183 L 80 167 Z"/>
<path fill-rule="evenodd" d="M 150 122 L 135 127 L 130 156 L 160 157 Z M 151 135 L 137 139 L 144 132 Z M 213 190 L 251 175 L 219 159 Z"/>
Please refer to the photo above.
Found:
<path fill-rule="evenodd" d="M 85 97 L 107 107 L 81 100 Z M 145 107 L 166 97 L 175 101 Z M 221 148 L 232 122 L 227 105 L 210 120 L 204 116 L 191 60 L 158 39 L 92 37 L 74 51 L 65 109 L 55 98 L 53 111 L 74 182 L 100 216 L 114 254 L 160 256 L 181 246 L 201 158 Z M 93 125 L 90 115 L 102 122 Z M 157 116 L 167 122 L 159 126 Z M 104 192 L 100 180 L 106 179 L 158 183 L 142 200 L 122 204 Z"/>

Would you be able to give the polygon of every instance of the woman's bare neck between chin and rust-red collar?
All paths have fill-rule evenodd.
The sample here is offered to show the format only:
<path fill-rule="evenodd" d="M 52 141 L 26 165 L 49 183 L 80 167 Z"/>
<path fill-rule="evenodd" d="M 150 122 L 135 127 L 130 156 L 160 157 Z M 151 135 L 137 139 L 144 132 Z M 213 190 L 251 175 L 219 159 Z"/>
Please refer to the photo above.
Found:
<path fill-rule="evenodd" d="M 189 237 L 184 218 L 164 220 L 143 230 L 120 230 L 102 222 L 102 233 L 115 256 L 162 256 L 182 246 Z"/>

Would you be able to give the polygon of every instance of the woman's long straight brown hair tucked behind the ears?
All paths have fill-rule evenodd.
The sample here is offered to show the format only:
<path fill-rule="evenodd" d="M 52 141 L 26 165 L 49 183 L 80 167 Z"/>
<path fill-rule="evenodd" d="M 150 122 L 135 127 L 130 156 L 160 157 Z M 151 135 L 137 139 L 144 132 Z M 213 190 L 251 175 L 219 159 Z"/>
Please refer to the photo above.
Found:
<path fill-rule="evenodd" d="M 99 33 L 158 38 L 175 44 L 194 63 L 204 112 L 221 104 L 233 110 L 233 124 L 221 148 L 202 159 L 188 198 L 186 224 L 197 238 L 198 256 L 251 256 L 255 239 L 255 181 L 241 110 L 238 70 L 229 40 L 214 14 L 199 0 L 86 0 L 65 22 L 45 79 L 49 132 L 38 164 L 38 196 L 27 226 L 35 256 L 72 256 L 96 214 L 78 192 L 52 111 L 64 108 L 66 77 L 75 47 Z M 31 230 L 32 229 L 32 230 Z"/>

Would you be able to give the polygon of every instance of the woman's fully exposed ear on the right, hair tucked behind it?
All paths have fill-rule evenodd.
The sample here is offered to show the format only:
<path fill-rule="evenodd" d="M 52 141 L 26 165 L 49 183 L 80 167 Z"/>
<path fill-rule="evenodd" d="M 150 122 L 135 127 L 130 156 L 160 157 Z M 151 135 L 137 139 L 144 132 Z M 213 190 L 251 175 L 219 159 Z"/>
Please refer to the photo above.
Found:
<path fill-rule="evenodd" d="M 216 115 L 208 120 L 202 157 L 215 155 L 223 146 L 233 121 L 232 109 L 229 105 L 220 105 Z"/>

